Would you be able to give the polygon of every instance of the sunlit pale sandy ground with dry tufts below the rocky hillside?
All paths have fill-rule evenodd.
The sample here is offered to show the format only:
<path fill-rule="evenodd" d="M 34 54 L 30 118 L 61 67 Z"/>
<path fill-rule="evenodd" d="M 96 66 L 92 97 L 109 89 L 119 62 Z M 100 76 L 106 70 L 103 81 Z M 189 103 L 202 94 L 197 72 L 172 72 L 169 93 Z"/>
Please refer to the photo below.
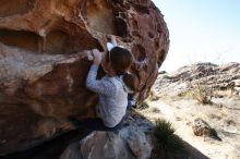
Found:
<path fill-rule="evenodd" d="M 158 96 L 157 90 L 155 95 Z M 188 96 L 164 96 L 157 100 L 147 99 L 149 107 L 140 112 L 153 122 L 156 119 L 171 122 L 176 134 L 211 159 L 240 159 L 240 96 L 224 93 L 221 98 L 212 101 L 213 105 L 203 106 Z M 195 136 L 192 125 L 196 118 L 206 121 L 221 142 Z"/>

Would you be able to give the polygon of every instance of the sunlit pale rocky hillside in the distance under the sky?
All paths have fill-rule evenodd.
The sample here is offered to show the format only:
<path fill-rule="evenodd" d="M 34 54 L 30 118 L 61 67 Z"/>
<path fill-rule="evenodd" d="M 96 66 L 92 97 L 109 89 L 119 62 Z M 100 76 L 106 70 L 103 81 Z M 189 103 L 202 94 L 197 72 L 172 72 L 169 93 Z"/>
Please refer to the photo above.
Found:
<path fill-rule="evenodd" d="M 211 89 L 232 89 L 238 94 L 240 87 L 240 63 L 216 65 L 213 63 L 197 63 L 178 69 L 168 74 L 163 72 L 155 83 L 155 90 L 159 95 L 181 95 L 196 85 Z"/>

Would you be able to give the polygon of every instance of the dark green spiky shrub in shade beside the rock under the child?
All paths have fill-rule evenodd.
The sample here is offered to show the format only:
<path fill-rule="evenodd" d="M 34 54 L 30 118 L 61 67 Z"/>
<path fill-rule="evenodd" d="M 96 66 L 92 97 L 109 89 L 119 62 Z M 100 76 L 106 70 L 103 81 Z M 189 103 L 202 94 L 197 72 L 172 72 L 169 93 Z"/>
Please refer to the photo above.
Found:
<path fill-rule="evenodd" d="M 184 159 L 187 151 L 183 140 L 175 134 L 175 129 L 171 123 L 165 120 L 157 120 L 154 130 L 156 138 L 153 158 L 167 158 L 167 159 Z"/>

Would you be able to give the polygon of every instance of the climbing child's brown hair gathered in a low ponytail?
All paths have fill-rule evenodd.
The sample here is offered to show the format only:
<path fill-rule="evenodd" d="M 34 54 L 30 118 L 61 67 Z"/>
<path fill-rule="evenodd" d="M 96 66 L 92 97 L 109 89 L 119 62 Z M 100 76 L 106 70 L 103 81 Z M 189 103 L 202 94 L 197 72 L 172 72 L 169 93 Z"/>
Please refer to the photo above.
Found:
<path fill-rule="evenodd" d="M 133 91 L 136 91 L 139 78 L 133 74 L 127 73 L 134 60 L 132 53 L 121 47 L 115 47 L 108 53 L 108 59 L 111 62 L 111 66 L 116 71 L 117 75 L 123 75 L 122 80 L 124 84 Z"/>

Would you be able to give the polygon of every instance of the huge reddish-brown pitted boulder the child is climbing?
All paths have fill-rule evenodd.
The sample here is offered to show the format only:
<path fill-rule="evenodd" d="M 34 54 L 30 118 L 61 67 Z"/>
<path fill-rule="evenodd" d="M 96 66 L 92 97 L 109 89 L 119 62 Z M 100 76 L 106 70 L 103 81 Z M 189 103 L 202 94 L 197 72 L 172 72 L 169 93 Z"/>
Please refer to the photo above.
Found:
<path fill-rule="evenodd" d="M 169 47 L 166 23 L 151 0 L 1 1 L 0 155 L 70 130 L 68 115 L 95 115 L 83 50 L 105 53 L 109 35 L 134 54 L 131 72 L 141 82 L 135 96 L 143 100 Z"/>

